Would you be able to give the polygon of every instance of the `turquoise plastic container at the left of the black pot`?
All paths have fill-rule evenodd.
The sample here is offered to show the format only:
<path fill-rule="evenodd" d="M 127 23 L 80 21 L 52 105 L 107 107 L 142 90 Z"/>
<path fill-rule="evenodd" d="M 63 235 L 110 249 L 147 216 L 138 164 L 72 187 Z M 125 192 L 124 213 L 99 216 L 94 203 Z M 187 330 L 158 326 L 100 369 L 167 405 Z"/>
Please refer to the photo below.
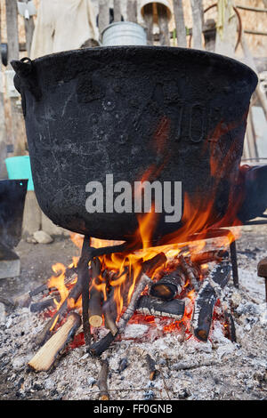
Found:
<path fill-rule="evenodd" d="M 28 179 L 28 190 L 34 190 L 29 156 L 8 157 L 5 165 L 10 180 Z"/>

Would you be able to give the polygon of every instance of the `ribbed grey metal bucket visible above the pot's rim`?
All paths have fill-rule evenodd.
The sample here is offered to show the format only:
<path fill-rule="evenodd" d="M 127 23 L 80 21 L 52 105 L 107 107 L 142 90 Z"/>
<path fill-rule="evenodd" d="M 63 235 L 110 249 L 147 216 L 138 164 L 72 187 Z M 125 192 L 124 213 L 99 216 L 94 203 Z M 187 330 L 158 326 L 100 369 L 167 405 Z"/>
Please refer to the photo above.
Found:
<path fill-rule="evenodd" d="M 102 46 L 146 45 L 147 34 L 142 26 L 131 21 L 111 23 L 101 33 Z"/>

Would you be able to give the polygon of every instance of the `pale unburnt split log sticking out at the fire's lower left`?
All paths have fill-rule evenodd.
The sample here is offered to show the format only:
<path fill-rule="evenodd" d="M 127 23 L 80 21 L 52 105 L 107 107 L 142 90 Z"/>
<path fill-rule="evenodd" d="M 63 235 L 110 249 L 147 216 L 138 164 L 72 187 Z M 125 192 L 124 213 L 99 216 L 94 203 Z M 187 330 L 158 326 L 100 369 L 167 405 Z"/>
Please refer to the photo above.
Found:
<path fill-rule="evenodd" d="M 53 366 L 60 351 L 66 347 L 69 340 L 76 334 L 80 324 L 80 316 L 75 312 L 71 313 L 65 324 L 36 352 L 34 358 L 28 362 L 28 366 L 36 372 L 47 372 Z"/>

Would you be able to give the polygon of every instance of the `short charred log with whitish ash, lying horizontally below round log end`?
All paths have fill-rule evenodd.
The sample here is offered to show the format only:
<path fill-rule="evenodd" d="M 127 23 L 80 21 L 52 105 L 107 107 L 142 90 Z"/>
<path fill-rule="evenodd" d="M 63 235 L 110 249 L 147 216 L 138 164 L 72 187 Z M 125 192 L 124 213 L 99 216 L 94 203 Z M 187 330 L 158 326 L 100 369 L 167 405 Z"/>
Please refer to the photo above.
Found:
<path fill-rule="evenodd" d="M 184 301 L 174 299 L 173 301 L 161 301 L 157 298 L 143 295 L 140 297 L 137 306 L 137 312 L 143 315 L 152 315 L 154 317 L 170 317 L 180 320 L 184 314 Z"/>

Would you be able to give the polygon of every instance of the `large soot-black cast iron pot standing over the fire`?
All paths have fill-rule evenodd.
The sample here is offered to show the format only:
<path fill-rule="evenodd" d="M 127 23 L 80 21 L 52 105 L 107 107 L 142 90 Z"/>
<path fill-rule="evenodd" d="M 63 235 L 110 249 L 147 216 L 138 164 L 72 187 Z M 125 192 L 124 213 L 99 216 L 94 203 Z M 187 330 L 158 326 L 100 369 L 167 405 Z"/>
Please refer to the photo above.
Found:
<path fill-rule="evenodd" d="M 88 181 L 182 181 L 214 221 L 231 205 L 255 73 L 182 48 L 102 47 L 12 61 L 22 97 L 36 197 L 56 224 L 128 239 L 134 213 L 87 213 Z M 225 161 L 227 162 L 225 164 Z M 214 167 L 215 168 L 214 170 Z M 157 235 L 181 226 L 158 219 Z"/>

